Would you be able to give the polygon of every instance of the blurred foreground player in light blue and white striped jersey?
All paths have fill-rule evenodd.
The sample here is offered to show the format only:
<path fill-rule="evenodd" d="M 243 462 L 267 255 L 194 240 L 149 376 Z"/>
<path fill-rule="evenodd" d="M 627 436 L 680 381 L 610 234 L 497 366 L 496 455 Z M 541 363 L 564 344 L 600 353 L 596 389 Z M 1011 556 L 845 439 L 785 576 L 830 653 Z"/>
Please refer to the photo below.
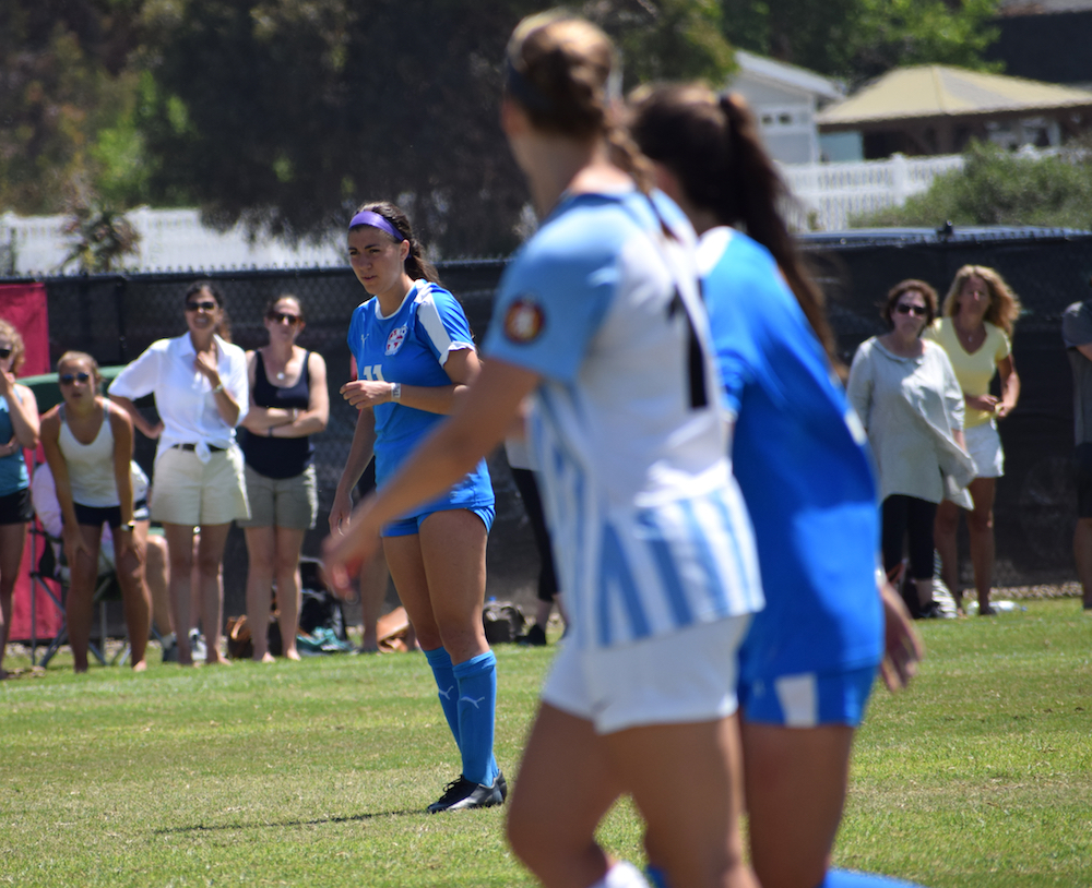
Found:
<path fill-rule="evenodd" d="M 755 888 L 744 860 L 736 650 L 762 603 L 690 226 L 616 125 L 609 39 L 532 16 L 501 123 L 542 219 L 501 280 L 488 360 L 455 412 L 327 544 L 331 577 L 503 440 L 526 395 L 571 629 L 509 812 L 546 886 L 640 888 L 595 830 L 629 793 L 673 884 Z M 640 183 L 640 187 L 639 184 Z"/>

